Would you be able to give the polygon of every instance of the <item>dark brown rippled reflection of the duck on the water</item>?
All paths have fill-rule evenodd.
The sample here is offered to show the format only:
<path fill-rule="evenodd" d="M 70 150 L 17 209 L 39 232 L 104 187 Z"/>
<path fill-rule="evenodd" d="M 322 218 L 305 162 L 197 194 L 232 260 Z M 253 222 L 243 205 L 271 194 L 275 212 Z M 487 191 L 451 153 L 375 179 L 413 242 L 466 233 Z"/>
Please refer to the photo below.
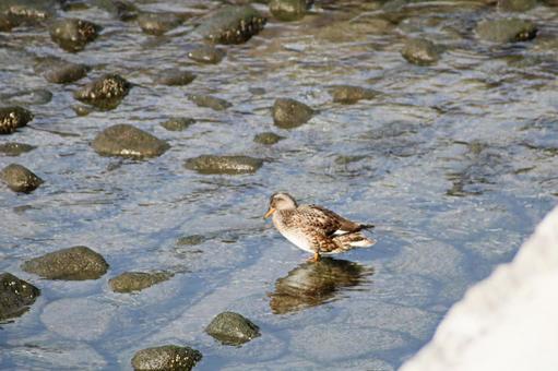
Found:
<path fill-rule="evenodd" d="M 284 314 L 320 306 L 334 300 L 342 289 L 366 283 L 372 274 L 372 267 L 331 258 L 300 264 L 275 282 L 275 291 L 269 295 L 271 310 Z"/>

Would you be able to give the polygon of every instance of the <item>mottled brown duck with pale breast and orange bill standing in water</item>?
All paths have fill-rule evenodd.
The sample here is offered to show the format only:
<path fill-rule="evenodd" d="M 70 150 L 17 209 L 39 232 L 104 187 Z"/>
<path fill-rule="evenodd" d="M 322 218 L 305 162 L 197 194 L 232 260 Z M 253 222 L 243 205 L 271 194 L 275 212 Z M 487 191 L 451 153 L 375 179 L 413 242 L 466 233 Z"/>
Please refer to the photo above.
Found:
<path fill-rule="evenodd" d="M 285 192 L 270 198 L 270 208 L 264 215 L 273 215 L 273 225 L 297 248 L 313 253 L 310 261 L 317 262 L 321 254 L 335 254 L 353 248 L 368 248 L 376 243 L 363 230 L 373 225 L 345 219 L 334 212 L 318 205 L 298 205 Z"/>

